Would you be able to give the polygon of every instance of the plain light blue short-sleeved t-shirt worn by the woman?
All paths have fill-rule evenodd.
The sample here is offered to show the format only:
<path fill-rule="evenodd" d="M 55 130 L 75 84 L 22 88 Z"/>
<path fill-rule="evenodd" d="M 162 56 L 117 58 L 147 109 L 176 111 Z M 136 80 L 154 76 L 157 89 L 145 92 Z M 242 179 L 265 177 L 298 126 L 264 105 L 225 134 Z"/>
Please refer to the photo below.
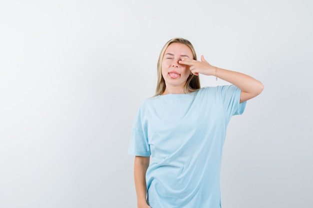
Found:
<path fill-rule="evenodd" d="M 234 85 L 144 100 L 128 154 L 151 156 L 146 172 L 151 208 L 220 208 L 220 165 L 227 124 L 242 114 Z"/>

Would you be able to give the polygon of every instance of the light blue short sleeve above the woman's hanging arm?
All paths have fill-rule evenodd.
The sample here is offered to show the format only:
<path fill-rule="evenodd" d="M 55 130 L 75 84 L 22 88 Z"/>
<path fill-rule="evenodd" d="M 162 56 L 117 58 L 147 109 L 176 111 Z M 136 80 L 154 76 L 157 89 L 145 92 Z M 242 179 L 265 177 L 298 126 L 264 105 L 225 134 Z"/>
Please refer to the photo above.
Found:
<path fill-rule="evenodd" d="M 151 155 L 147 137 L 147 125 L 145 124 L 142 105 L 139 107 L 133 121 L 131 137 L 128 146 L 128 154 L 148 157 Z"/>

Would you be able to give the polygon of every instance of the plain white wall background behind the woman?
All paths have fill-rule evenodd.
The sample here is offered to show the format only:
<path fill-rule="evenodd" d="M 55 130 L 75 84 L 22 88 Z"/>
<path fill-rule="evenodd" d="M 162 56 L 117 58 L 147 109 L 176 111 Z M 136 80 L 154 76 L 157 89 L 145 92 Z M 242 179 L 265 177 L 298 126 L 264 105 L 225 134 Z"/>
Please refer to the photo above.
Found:
<path fill-rule="evenodd" d="M 312 19 L 311 0 L 1 0 L 0 208 L 135 208 L 131 125 L 173 37 L 265 86 L 228 126 L 223 208 L 313 207 Z"/>

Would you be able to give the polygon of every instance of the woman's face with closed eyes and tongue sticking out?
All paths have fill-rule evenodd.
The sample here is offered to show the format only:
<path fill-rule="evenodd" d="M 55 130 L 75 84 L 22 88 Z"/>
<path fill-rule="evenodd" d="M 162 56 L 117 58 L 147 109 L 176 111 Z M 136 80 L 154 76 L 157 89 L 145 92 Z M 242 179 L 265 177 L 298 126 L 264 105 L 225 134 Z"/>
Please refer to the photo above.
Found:
<path fill-rule="evenodd" d="M 192 57 L 191 49 L 185 44 L 174 42 L 166 48 L 161 65 L 166 87 L 183 89 L 190 70 L 188 65 L 179 64 L 178 61 L 182 58 L 192 59 Z"/>

